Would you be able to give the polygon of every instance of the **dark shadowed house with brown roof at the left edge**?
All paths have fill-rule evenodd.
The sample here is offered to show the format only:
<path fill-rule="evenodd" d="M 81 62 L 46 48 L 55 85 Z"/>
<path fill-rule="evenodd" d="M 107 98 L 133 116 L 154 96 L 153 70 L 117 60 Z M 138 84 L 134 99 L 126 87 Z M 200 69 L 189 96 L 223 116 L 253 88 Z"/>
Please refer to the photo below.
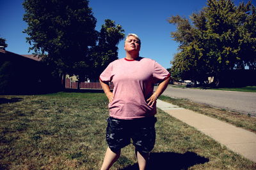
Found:
<path fill-rule="evenodd" d="M 38 94 L 57 86 L 40 58 L 0 48 L 0 94 Z"/>

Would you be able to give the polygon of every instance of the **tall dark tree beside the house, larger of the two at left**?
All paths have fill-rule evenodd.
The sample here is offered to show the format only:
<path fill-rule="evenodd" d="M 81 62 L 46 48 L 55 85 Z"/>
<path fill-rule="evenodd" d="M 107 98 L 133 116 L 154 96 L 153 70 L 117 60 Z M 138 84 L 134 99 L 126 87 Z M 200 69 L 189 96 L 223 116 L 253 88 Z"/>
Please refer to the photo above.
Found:
<path fill-rule="evenodd" d="M 27 41 L 59 78 L 89 71 L 90 46 L 97 40 L 96 19 L 86 0 L 25 0 Z"/>

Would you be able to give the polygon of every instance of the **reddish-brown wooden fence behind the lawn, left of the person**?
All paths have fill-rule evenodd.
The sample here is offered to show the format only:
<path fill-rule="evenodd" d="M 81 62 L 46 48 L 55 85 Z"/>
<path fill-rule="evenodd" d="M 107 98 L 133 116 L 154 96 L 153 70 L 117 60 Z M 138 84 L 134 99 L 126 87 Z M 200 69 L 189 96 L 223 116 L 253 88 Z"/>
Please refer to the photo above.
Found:
<path fill-rule="evenodd" d="M 69 78 L 66 78 L 65 88 L 66 89 L 77 89 L 78 82 L 71 81 Z M 100 82 L 80 82 L 80 89 L 102 89 Z M 113 83 L 109 83 L 109 88 L 113 90 Z"/>

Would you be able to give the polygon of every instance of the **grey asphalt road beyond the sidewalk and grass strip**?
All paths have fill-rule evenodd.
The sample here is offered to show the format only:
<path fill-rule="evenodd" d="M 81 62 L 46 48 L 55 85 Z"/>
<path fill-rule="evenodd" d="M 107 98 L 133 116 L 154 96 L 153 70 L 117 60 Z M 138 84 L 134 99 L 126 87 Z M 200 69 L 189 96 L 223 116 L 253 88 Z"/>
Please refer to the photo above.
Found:
<path fill-rule="evenodd" d="M 222 90 L 182 89 L 168 86 L 163 93 L 180 99 L 189 99 L 196 103 L 209 104 L 217 108 L 238 111 L 256 117 L 255 92 L 231 92 Z"/>

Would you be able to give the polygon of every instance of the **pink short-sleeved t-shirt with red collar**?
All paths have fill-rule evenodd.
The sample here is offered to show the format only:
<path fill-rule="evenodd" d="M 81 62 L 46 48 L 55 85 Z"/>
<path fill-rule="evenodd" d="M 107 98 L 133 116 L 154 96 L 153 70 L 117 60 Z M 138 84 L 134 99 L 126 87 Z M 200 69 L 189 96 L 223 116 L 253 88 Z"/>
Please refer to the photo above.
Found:
<path fill-rule="evenodd" d="M 100 74 L 100 80 L 112 81 L 114 100 L 109 103 L 109 116 L 119 119 L 151 117 L 156 114 L 156 103 L 150 107 L 147 99 L 154 92 L 154 83 L 170 76 L 155 60 L 138 57 L 111 62 Z"/>

